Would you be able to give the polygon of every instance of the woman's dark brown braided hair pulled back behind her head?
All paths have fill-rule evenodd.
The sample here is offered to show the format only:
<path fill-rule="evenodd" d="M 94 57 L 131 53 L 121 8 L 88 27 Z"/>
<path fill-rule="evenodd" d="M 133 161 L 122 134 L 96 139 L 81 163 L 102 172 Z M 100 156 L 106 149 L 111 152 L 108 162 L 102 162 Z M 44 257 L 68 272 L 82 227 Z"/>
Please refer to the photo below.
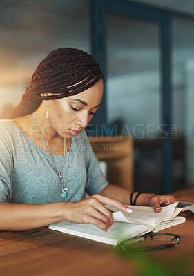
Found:
<path fill-rule="evenodd" d="M 61 99 L 81 93 L 94 86 L 99 79 L 104 80 L 99 64 L 87 52 L 74 48 L 54 50 L 37 66 L 10 119 L 31 114 L 42 100 Z"/>

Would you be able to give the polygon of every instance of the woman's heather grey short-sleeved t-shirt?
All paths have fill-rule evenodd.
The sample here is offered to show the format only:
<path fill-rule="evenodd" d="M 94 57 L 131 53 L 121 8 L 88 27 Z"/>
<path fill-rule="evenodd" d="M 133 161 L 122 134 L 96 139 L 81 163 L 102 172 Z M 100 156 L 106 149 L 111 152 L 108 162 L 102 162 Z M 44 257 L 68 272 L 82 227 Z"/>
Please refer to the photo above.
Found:
<path fill-rule="evenodd" d="M 65 201 L 79 201 L 84 192 L 100 193 L 108 182 L 99 168 L 86 132 L 72 137 L 68 154 Z M 52 155 L 58 168 L 64 156 Z M 62 184 L 66 162 L 61 170 Z M 61 186 L 50 155 L 37 146 L 14 121 L 0 120 L 0 201 L 47 204 L 61 201 Z"/>

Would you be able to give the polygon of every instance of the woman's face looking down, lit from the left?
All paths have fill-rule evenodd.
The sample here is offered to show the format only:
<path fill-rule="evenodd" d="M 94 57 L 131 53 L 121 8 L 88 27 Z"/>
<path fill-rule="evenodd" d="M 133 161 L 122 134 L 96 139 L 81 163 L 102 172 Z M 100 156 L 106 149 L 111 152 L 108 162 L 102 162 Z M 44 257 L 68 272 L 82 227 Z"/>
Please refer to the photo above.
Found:
<path fill-rule="evenodd" d="M 84 130 L 97 112 L 103 95 L 103 80 L 74 96 L 49 101 L 50 123 L 66 139 Z"/>

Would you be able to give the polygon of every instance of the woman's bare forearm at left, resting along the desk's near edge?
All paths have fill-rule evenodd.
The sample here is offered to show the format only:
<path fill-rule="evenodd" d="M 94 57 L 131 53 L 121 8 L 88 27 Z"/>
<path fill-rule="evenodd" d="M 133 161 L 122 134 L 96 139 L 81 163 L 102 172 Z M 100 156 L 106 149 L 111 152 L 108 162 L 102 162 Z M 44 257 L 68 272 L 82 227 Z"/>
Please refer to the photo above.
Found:
<path fill-rule="evenodd" d="M 64 203 L 10 204 L 0 202 L 0 230 L 28 230 L 65 220 Z"/>

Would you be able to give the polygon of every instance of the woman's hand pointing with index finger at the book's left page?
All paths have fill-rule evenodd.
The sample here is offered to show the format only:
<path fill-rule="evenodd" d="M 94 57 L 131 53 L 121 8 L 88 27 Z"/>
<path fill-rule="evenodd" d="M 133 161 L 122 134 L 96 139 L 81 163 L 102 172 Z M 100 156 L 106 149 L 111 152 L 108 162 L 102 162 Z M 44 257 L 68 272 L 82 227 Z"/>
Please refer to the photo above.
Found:
<path fill-rule="evenodd" d="M 113 224 L 113 215 L 104 205 L 113 206 L 126 214 L 131 213 L 128 206 L 117 199 L 97 194 L 81 201 L 67 202 L 65 220 L 76 224 L 94 224 L 101 230 L 108 231 Z"/>

